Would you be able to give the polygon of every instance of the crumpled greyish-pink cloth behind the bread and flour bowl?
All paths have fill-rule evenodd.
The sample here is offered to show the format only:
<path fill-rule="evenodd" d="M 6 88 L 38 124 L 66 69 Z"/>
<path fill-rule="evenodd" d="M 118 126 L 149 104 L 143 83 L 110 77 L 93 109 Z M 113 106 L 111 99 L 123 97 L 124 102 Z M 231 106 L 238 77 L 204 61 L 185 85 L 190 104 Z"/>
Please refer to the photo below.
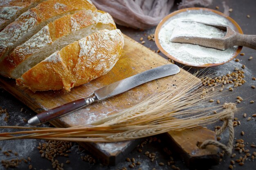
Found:
<path fill-rule="evenodd" d="M 112 15 L 119 25 L 149 29 L 156 26 L 168 15 L 175 0 L 92 0 L 102 11 Z M 208 6 L 212 0 L 182 0 L 179 8 L 193 7 L 195 4 Z"/>

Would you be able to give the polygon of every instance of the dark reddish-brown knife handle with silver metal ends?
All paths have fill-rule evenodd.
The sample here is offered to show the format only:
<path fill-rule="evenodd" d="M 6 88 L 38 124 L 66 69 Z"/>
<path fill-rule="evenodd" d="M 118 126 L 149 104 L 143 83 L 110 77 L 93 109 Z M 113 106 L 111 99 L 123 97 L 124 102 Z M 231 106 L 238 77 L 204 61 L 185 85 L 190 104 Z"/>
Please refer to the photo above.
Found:
<path fill-rule="evenodd" d="M 74 102 L 70 102 L 70 103 L 58 106 L 56 108 L 47 110 L 45 112 L 42 112 L 42 113 L 32 117 L 31 119 L 29 119 L 28 123 L 31 125 L 43 124 L 45 122 L 56 119 L 58 117 L 67 115 L 68 113 L 78 110 L 84 106 L 88 106 L 89 104 L 92 104 L 93 102 L 95 102 L 97 100 L 98 100 L 98 98 L 96 97 L 95 94 L 93 94 L 92 97 L 78 99 Z"/>

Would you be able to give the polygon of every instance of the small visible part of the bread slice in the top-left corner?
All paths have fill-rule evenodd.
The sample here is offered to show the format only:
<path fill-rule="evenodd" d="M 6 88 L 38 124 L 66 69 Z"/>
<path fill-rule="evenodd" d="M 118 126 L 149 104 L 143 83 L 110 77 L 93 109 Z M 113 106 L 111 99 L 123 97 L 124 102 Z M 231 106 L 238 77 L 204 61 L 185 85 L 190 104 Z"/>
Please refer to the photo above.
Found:
<path fill-rule="evenodd" d="M 0 1 L 0 31 L 18 16 L 46 0 L 2 0 Z"/>

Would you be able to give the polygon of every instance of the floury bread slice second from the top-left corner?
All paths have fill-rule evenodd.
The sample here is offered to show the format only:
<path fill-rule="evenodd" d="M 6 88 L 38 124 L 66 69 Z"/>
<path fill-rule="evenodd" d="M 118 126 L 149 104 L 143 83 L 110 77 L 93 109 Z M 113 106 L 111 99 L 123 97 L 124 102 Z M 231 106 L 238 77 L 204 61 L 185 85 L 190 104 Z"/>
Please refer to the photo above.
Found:
<path fill-rule="evenodd" d="M 96 7 L 87 0 L 47 0 L 22 13 L 0 32 L 0 62 L 49 22 L 83 9 L 96 10 Z"/>

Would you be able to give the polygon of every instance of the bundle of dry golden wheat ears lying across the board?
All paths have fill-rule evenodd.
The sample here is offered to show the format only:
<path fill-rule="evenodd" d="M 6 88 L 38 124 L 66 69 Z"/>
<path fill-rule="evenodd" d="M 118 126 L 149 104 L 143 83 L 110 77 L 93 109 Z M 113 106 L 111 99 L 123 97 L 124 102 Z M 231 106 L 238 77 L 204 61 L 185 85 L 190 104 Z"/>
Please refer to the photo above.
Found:
<path fill-rule="evenodd" d="M 182 77 L 182 76 L 181 76 Z M 170 83 L 172 84 L 172 83 Z M 170 130 L 184 130 L 231 119 L 237 108 L 234 104 L 213 106 L 210 99 L 220 97 L 218 86 L 202 86 L 191 78 L 176 86 L 161 89 L 143 102 L 119 113 L 108 115 L 91 124 L 71 128 L 35 128 L 2 126 L 0 128 L 27 129 L 3 132 L 0 140 L 48 139 L 76 142 L 126 141 L 157 135 Z M 188 91 L 189 89 L 192 89 Z M 224 94 L 224 93 L 223 93 Z M 217 114 L 213 110 L 218 111 Z M 72 113 L 71 113 L 72 114 Z"/>

